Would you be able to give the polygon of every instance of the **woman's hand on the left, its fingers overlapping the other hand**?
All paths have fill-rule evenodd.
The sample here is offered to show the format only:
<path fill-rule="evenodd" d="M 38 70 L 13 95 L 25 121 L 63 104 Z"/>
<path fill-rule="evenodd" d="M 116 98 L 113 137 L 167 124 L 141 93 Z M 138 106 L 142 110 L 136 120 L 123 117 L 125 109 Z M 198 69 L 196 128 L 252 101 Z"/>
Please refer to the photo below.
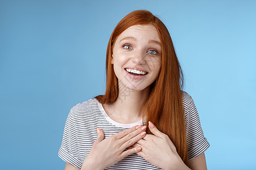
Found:
<path fill-rule="evenodd" d="M 141 150 L 141 147 L 125 148 L 138 142 L 146 135 L 146 126 L 134 126 L 104 139 L 104 132 L 97 128 L 98 138 L 84 160 L 81 169 L 104 169 L 128 155 Z"/>

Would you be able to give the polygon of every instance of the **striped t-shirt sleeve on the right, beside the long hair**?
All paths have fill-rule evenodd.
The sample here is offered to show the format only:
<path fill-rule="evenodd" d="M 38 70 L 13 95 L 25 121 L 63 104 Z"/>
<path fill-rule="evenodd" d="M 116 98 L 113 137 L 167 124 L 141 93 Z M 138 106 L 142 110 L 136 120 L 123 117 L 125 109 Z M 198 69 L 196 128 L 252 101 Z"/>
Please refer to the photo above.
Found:
<path fill-rule="evenodd" d="M 193 99 L 185 114 L 185 126 L 187 131 L 188 159 L 192 159 L 203 154 L 210 146 L 207 139 L 204 137 L 199 114 L 197 113 Z"/>

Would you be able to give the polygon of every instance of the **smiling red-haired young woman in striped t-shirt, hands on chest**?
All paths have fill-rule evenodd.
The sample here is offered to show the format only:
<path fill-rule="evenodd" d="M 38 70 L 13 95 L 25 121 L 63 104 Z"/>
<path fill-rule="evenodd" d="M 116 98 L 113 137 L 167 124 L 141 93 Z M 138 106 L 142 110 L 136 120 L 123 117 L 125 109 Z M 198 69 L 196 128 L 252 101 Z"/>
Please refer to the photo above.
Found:
<path fill-rule="evenodd" d="M 77 104 L 58 155 L 65 169 L 207 169 L 209 147 L 170 33 L 151 12 L 115 27 L 105 95 Z"/>

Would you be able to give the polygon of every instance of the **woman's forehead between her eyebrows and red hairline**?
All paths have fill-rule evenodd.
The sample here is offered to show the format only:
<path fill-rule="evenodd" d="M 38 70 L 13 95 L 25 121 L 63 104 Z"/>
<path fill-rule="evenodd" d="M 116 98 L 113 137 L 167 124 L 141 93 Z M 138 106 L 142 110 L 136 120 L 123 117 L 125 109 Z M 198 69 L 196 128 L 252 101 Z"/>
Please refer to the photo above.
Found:
<path fill-rule="evenodd" d="M 150 38 L 156 41 L 160 41 L 158 30 L 152 24 L 145 24 L 145 25 L 133 25 L 123 31 L 117 39 L 122 39 L 123 37 L 131 36 L 131 37 L 145 37 Z"/>

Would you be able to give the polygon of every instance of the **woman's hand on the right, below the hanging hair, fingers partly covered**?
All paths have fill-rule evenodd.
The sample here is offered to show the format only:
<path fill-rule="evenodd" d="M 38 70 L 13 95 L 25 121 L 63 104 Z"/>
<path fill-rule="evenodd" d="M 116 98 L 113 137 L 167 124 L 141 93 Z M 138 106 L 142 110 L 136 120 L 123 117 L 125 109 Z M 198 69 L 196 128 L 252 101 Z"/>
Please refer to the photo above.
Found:
<path fill-rule="evenodd" d="M 137 154 L 155 167 L 162 169 L 187 169 L 188 167 L 183 163 L 179 154 L 177 154 L 176 147 L 168 135 L 159 131 L 152 122 L 148 122 L 148 124 L 153 135 L 146 134 L 143 139 L 129 148 L 141 147 L 142 150 L 137 152 Z"/>

